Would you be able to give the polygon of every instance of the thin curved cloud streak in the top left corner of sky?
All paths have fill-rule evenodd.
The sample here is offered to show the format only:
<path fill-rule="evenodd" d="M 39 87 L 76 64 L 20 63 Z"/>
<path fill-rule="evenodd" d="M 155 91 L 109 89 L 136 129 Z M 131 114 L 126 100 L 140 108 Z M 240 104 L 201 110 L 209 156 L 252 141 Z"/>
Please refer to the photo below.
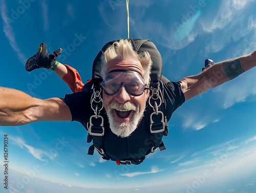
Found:
<path fill-rule="evenodd" d="M 16 52 L 17 57 L 19 59 L 19 61 L 25 65 L 26 61 L 27 61 L 27 57 L 25 56 L 25 54 L 19 49 L 16 39 L 15 39 L 15 33 L 12 30 L 12 25 L 10 22 L 10 16 L 8 15 L 8 8 L 6 5 L 6 2 L 4 0 L 0 1 L 1 2 L 1 17 L 3 19 L 3 28 L 4 28 L 4 33 L 5 36 L 7 37 L 9 44 L 11 45 L 12 49 Z M 9 19 L 9 20 L 7 20 Z M 7 22 L 8 21 L 8 22 Z"/>

